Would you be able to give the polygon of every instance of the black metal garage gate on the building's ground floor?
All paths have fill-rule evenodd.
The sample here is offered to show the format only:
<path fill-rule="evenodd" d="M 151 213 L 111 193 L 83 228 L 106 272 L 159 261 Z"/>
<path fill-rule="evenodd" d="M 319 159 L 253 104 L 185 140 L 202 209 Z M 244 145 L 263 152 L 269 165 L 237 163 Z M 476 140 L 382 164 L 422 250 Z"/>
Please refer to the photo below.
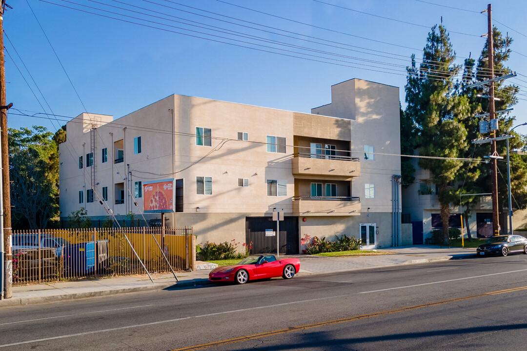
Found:
<path fill-rule="evenodd" d="M 280 220 L 280 255 L 294 255 L 299 251 L 298 217 L 284 217 Z M 276 254 L 276 220 L 271 217 L 245 217 L 246 243 L 252 243 L 251 255 Z"/>

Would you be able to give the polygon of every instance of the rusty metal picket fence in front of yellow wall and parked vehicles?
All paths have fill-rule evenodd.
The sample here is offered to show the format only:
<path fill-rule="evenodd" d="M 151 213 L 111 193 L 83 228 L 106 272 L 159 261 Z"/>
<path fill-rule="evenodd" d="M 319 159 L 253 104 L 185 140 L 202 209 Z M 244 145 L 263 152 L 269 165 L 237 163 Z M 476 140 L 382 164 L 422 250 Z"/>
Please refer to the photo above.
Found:
<path fill-rule="evenodd" d="M 13 284 L 194 269 L 195 243 L 192 227 L 14 231 Z"/>

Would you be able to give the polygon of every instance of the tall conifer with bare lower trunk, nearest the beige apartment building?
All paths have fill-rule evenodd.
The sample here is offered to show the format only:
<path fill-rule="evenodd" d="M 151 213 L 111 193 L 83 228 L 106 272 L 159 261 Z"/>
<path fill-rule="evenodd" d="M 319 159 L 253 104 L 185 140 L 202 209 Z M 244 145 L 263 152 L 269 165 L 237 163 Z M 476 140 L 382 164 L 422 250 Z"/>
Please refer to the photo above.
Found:
<path fill-rule="evenodd" d="M 405 114 L 415 125 L 415 145 L 419 155 L 457 158 L 469 146 L 463 124 L 470 114 L 469 99 L 455 90 L 454 77 L 461 67 L 454 64 L 454 59 L 450 38 L 441 24 L 432 27 L 428 33 L 419 68 L 415 56 L 412 57 L 412 66 L 407 67 Z M 451 183 L 463 163 L 455 159 L 421 158 L 419 166 L 432 172 L 433 182 L 440 190 L 443 238 L 447 242 L 449 205 L 457 195 Z"/>

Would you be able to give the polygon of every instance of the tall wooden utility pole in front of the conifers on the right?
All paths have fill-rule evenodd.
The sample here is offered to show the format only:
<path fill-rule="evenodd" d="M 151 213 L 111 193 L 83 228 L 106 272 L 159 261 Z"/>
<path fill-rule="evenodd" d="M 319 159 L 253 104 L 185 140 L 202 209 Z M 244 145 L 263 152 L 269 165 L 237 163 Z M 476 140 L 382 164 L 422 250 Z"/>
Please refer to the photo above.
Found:
<path fill-rule="evenodd" d="M 497 136 L 497 120 L 496 120 L 496 110 L 494 108 L 494 43 L 492 37 L 492 5 L 487 5 L 487 53 L 489 54 L 489 119 L 491 122 L 491 138 Z M 492 123 L 493 119 L 495 120 Z M 498 214 L 498 200 L 497 200 L 497 151 L 496 151 L 496 141 L 491 142 L 491 156 L 492 156 L 492 172 L 491 172 L 491 184 L 492 184 L 492 234 L 499 235 L 501 232 L 500 227 L 500 216 Z"/>

